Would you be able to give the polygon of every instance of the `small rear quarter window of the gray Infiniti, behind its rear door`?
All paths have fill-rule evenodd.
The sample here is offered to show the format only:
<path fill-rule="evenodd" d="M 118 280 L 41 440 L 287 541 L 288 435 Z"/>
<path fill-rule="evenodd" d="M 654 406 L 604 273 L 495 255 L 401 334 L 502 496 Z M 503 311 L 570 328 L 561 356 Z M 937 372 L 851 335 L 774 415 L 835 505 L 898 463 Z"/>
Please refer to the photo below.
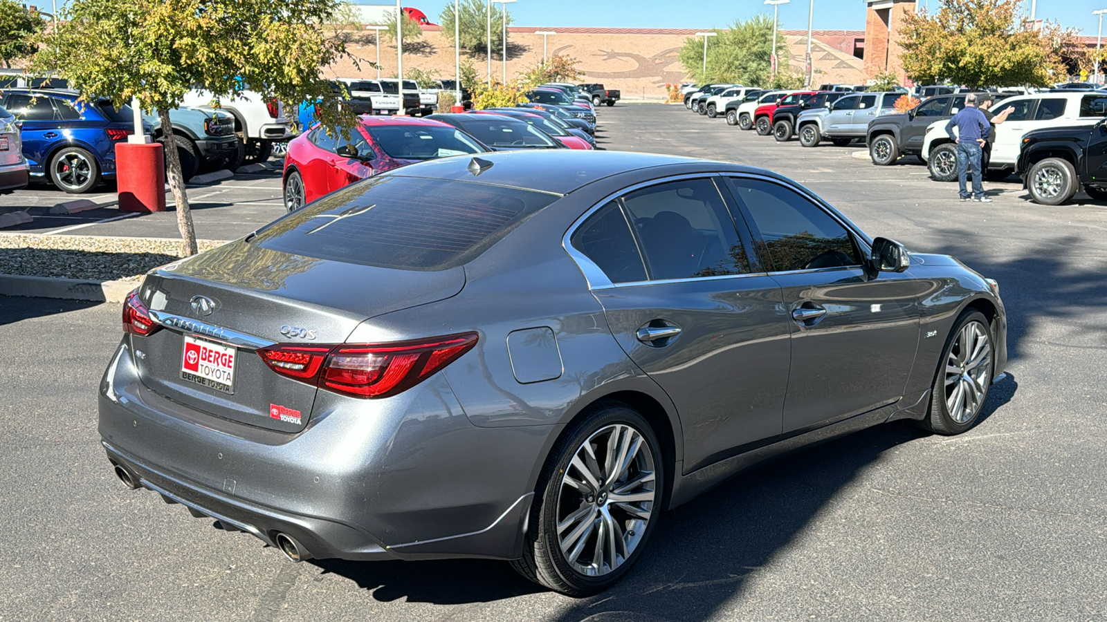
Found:
<path fill-rule="evenodd" d="M 592 260 L 612 283 L 645 280 L 645 267 L 619 204 L 612 201 L 588 217 L 570 243 Z"/>

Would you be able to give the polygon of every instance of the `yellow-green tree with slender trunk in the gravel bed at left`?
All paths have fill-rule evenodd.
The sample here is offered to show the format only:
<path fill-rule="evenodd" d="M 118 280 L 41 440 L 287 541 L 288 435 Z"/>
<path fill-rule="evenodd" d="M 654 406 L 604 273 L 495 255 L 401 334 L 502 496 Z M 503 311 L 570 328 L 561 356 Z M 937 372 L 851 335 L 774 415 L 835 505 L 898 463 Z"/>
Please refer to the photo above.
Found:
<path fill-rule="evenodd" d="M 352 58 L 318 27 L 337 7 L 338 0 L 73 0 L 32 66 L 55 70 L 84 96 L 110 97 L 116 106 L 137 97 L 144 110 L 157 110 L 163 127 L 194 87 L 215 99 L 252 90 L 292 105 L 315 102 L 324 125 L 349 127 L 352 115 L 320 77 L 320 68 Z M 183 255 L 194 255 L 180 159 L 173 148 L 165 156 Z"/>

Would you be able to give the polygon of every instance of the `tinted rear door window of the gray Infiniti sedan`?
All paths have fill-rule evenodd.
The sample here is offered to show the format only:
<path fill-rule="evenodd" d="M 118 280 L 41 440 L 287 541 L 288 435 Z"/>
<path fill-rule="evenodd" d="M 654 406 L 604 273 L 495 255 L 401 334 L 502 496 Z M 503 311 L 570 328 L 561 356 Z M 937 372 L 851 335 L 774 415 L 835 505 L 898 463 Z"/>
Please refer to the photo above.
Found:
<path fill-rule="evenodd" d="M 749 271 L 723 198 L 710 179 L 659 184 L 623 197 L 651 279 Z"/>

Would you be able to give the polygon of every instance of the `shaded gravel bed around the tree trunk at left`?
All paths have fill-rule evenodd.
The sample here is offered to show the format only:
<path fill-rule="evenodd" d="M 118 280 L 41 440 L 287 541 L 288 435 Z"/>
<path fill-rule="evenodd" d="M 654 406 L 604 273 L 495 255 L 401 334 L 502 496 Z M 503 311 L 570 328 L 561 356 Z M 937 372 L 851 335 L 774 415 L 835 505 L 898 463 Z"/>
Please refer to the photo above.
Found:
<path fill-rule="evenodd" d="M 198 242 L 210 250 L 226 242 Z M 137 281 L 182 257 L 180 241 L 93 236 L 0 235 L 0 274 Z"/>

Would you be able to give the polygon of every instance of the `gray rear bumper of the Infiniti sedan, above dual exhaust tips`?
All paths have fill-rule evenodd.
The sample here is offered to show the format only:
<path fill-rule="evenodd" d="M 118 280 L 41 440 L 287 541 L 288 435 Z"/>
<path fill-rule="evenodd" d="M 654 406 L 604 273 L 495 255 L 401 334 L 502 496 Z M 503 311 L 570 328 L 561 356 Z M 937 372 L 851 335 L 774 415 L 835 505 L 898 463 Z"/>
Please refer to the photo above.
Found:
<path fill-rule="evenodd" d="M 551 428 L 477 427 L 438 376 L 387 400 L 320 392 L 323 414 L 303 431 L 268 431 L 154 393 L 133 356 L 124 339 L 101 383 L 102 443 L 143 488 L 194 516 L 268 545 L 287 533 L 314 558 L 521 554 Z"/>

